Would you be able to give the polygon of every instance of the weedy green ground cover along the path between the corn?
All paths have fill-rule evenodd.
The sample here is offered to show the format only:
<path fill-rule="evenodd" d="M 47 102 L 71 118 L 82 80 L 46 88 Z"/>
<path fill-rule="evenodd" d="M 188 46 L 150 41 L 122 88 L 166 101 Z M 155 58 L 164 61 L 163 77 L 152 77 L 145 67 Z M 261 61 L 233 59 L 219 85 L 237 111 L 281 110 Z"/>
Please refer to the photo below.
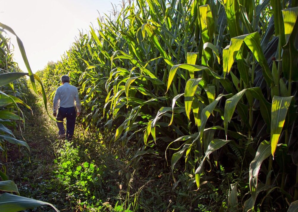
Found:
<path fill-rule="evenodd" d="M 57 140 L 56 123 L 47 116 L 41 97 L 29 90 L 26 98 L 33 115 L 23 110 L 26 128 L 15 136 L 26 138 L 31 152 L 9 145 L 4 163 L 21 196 L 52 203 L 60 211 L 211 210 L 225 199 L 211 184 L 199 195 L 185 192 L 182 186 L 191 185 L 187 173 L 179 175 L 181 187 L 172 190 L 162 158 L 156 164 L 143 161 L 137 169 L 127 167 L 131 152 L 108 149 L 101 134 L 85 131 L 79 123 L 73 141 Z M 31 211 L 49 210 L 42 206 Z"/>

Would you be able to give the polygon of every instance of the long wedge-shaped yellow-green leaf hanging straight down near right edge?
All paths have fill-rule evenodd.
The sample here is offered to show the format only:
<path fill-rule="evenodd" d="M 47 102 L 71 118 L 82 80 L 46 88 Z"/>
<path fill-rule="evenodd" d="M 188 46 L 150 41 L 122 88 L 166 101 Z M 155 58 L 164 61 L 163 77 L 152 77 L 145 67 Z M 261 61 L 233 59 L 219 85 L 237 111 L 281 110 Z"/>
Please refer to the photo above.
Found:
<path fill-rule="evenodd" d="M 274 158 L 274 152 L 280 137 L 280 133 L 285 123 L 288 108 L 291 104 L 293 96 L 281 97 L 273 96 L 271 107 L 271 154 Z"/>

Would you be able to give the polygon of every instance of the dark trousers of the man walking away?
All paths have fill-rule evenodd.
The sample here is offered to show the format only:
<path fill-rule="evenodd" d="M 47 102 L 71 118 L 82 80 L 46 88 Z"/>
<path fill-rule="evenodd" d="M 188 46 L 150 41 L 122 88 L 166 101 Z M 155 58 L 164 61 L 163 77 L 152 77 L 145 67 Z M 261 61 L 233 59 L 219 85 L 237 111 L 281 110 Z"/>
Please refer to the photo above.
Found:
<path fill-rule="evenodd" d="M 64 135 L 64 125 L 63 119 L 66 118 L 66 139 L 71 139 L 75 131 L 75 118 L 76 111 L 75 107 L 59 107 L 57 120 L 62 122 L 57 122 L 59 128 L 59 135 Z"/>

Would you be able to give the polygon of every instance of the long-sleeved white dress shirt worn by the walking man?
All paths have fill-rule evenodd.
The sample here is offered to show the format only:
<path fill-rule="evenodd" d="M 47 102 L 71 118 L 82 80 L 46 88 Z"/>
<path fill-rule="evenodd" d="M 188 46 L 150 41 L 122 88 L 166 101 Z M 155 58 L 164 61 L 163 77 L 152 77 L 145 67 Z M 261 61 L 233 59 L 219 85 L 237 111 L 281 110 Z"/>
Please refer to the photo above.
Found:
<path fill-rule="evenodd" d="M 75 104 L 76 102 L 76 104 Z M 81 102 L 79 99 L 79 93 L 77 87 L 69 85 L 65 82 L 63 85 L 59 86 L 56 90 L 54 100 L 53 100 L 53 112 L 55 113 L 58 107 L 75 107 L 77 106 L 77 112 L 81 112 Z"/>

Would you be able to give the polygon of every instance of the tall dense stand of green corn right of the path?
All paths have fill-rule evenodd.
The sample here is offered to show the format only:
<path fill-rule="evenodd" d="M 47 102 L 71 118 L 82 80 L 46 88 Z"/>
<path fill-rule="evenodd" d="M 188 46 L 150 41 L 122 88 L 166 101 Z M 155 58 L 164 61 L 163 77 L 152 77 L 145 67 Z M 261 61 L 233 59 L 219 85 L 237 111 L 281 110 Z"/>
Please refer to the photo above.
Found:
<path fill-rule="evenodd" d="M 128 166 L 162 158 L 173 187 L 183 171 L 185 190 L 224 187 L 218 211 L 296 211 L 297 16 L 297 0 L 122 1 L 28 74 L 45 104 L 68 74 L 80 121 L 133 150 Z"/>

